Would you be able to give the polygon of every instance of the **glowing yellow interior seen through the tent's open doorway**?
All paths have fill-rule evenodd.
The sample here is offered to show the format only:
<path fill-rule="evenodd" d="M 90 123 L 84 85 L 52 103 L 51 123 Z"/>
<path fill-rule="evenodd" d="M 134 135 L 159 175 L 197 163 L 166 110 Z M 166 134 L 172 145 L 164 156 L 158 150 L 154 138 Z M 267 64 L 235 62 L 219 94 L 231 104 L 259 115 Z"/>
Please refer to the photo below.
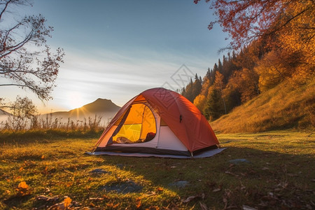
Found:
<path fill-rule="evenodd" d="M 127 118 L 126 114 L 128 115 Z M 155 117 L 146 104 L 132 104 L 129 113 L 127 112 L 125 115 L 115 123 L 121 127 L 119 132 L 113 136 L 113 143 L 143 143 L 151 141 L 155 137 Z"/>

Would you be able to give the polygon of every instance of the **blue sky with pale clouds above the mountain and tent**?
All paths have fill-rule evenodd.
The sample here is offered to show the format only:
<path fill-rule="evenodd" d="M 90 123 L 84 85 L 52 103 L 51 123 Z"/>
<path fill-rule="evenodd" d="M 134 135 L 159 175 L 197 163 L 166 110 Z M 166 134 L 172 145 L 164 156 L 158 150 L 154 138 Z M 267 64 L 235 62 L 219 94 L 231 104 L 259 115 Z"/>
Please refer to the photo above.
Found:
<path fill-rule="evenodd" d="M 13 102 L 27 96 L 40 113 L 69 111 L 98 98 L 123 106 L 152 87 L 177 90 L 195 73 L 204 77 L 228 45 L 220 27 L 207 29 L 215 17 L 203 1 L 34 0 L 22 11 L 43 15 L 54 27 L 48 44 L 66 54 L 52 100 L 1 87 L 1 97 Z"/>

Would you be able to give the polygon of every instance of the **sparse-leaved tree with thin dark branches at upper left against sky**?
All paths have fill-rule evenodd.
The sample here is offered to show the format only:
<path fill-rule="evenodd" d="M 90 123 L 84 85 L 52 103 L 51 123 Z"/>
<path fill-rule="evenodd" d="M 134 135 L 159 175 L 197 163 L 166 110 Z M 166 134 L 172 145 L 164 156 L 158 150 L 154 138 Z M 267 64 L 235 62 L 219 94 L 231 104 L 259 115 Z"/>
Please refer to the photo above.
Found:
<path fill-rule="evenodd" d="M 15 10 L 20 6 L 29 6 L 29 1 L 0 1 L 0 77 L 6 78 L 0 86 L 28 89 L 48 100 L 64 51 L 50 49 L 47 38 L 53 28 L 45 25 L 42 15 L 18 19 Z"/>

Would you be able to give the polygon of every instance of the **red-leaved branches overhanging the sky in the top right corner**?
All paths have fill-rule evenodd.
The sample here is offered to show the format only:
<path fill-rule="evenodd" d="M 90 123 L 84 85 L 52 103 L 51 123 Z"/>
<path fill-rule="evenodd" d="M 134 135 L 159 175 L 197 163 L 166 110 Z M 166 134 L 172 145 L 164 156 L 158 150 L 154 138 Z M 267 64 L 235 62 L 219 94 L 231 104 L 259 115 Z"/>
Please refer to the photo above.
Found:
<path fill-rule="evenodd" d="M 198 3 L 200 0 L 194 0 Z M 209 29 L 217 23 L 232 38 L 230 48 L 239 49 L 254 40 L 267 40 L 282 33 L 292 33 L 290 27 L 307 33 L 307 43 L 314 38 L 314 1 L 313 0 L 206 0 L 211 2 L 216 20 L 210 22 Z M 302 23 L 308 18 L 310 25 Z M 302 22 L 301 22 L 302 21 Z"/>

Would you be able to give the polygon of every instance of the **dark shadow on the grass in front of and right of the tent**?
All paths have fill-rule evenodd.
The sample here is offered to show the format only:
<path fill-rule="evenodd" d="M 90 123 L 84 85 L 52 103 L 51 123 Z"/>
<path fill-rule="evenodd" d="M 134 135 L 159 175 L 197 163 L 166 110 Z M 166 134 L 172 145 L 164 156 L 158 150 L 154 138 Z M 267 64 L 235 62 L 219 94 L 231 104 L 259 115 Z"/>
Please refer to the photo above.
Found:
<path fill-rule="evenodd" d="M 178 160 L 103 156 L 117 170 L 143 176 L 154 188 L 190 196 L 207 207 L 258 209 L 315 208 L 314 155 L 290 155 L 253 148 L 229 147 L 211 158 Z M 246 160 L 246 161 L 231 161 Z M 133 178 L 130 177 L 130 180 Z M 186 181 L 186 186 L 176 182 Z M 147 189 L 148 190 L 148 189 Z M 152 190 L 152 189 L 151 189 Z M 202 199 L 204 195 L 204 198 Z"/>

